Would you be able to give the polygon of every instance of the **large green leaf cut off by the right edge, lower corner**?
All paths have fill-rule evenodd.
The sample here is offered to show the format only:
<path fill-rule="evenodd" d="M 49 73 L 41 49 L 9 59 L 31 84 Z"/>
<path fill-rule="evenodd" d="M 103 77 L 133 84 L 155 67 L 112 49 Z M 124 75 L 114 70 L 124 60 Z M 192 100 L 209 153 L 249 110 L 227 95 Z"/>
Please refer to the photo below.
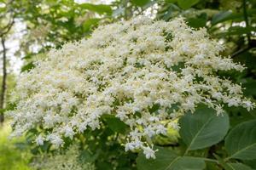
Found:
<path fill-rule="evenodd" d="M 225 139 L 230 158 L 256 159 L 256 120 L 242 122 L 234 127 Z"/>

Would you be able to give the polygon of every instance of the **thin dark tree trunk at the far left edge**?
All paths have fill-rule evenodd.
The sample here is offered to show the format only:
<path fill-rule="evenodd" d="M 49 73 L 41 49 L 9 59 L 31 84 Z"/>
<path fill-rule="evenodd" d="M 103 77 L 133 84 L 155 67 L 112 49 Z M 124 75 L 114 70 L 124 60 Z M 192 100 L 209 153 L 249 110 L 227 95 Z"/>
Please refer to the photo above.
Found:
<path fill-rule="evenodd" d="M 5 99 L 5 92 L 6 92 L 6 78 L 7 78 L 7 71 L 6 71 L 6 47 L 5 47 L 5 40 L 2 37 L 1 43 L 3 47 L 3 80 L 2 80 L 2 88 L 0 94 L 0 109 L 3 110 L 4 107 L 4 99 Z M 4 121 L 3 111 L 1 111 L 0 115 L 0 123 Z"/>

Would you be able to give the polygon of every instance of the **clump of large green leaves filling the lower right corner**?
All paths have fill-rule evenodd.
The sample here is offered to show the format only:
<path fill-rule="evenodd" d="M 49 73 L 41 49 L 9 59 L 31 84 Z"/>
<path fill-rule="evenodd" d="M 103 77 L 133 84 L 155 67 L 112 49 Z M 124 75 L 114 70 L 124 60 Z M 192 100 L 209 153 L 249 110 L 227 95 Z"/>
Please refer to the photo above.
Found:
<path fill-rule="evenodd" d="M 204 169 L 206 166 L 207 169 L 253 169 L 247 166 L 246 160 L 255 159 L 255 120 L 241 122 L 224 138 L 228 132 L 229 117 L 206 116 L 208 114 L 212 114 L 211 109 L 204 108 L 195 111 L 195 115 L 183 116 L 179 132 L 186 146 L 159 148 L 155 160 L 147 160 L 139 155 L 138 169 Z M 221 140 L 224 140 L 224 144 L 219 143 Z M 214 165 L 205 162 L 213 162 Z"/>

